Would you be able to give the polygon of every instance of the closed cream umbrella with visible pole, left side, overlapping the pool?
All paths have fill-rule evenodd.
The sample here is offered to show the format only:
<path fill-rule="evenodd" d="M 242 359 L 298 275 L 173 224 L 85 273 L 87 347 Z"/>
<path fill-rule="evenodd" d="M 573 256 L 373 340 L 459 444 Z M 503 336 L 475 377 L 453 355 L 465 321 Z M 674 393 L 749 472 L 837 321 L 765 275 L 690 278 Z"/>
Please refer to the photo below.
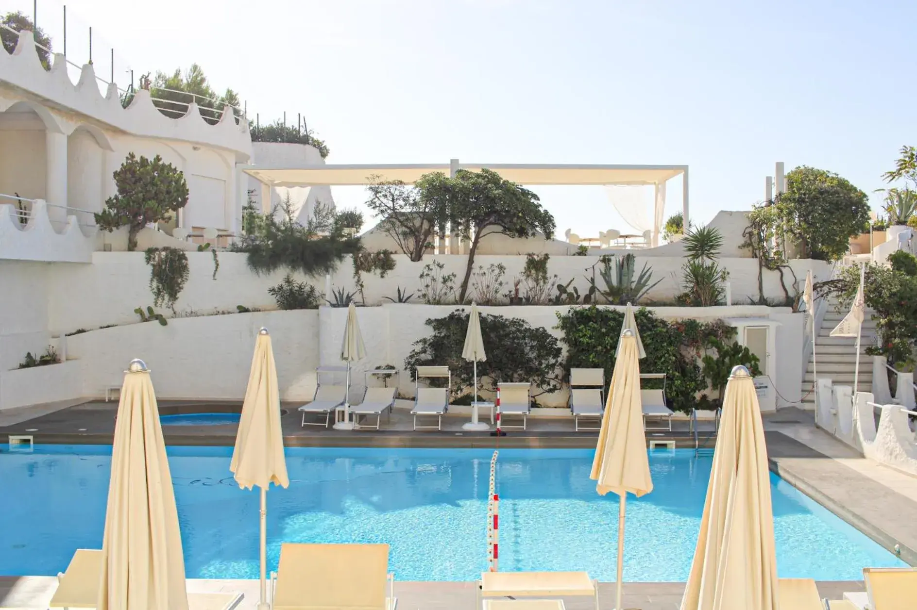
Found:
<path fill-rule="evenodd" d="M 286 460 L 283 457 L 283 432 L 281 430 L 281 397 L 277 386 L 277 367 L 271 348 L 271 335 L 266 328 L 258 332 L 255 355 L 251 359 L 249 386 L 242 403 L 242 417 L 238 422 L 236 447 L 232 452 L 229 470 L 240 487 L 260 487 L 260 580 L 259 609 L 267 603 L 267 516 L 268 487 L 271 483 L 286 487 Z"/>

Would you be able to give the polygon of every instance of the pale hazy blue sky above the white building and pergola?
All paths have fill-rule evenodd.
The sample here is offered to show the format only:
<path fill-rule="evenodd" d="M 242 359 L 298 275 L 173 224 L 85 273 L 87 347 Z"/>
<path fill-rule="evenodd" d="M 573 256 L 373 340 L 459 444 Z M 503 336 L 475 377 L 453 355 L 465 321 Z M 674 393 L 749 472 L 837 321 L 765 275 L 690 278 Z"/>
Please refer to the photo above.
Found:
<path fill-rule="evenodd" d="M 38 25 L 62 48 L 62 3 Z M 747 210 L 783 161 L 870 194 L 917 145 L 917 3 L 877 0 L 69 0 L 67 56 L 122 86 L 202 66 L 329 163 L 679 164 L 691 217 Z M 32 14 L 32 0 L 3 11 Z M 558 233 L 626 229 L 601 187 L 535 189 Z M 338 207 L 359 189 L 336 189 Z M 680 211 L 679 180 L 666 215 Z M 359 206 L 358 206 L 359 207 Z"/>

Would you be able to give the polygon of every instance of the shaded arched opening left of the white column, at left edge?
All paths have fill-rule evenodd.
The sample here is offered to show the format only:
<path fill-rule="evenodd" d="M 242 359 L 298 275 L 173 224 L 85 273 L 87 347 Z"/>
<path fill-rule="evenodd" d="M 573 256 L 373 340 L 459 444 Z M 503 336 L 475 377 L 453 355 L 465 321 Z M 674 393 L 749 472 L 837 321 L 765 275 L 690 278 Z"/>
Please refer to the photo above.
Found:
<path fill-rule="evenodd" d="M 0 113 L 0 193 L 23 200 L 47 199 L 46 125 L 36 109 L 17 102 Z M 25 223 L 31 202 L 0 197 L 22 211 Z"/>

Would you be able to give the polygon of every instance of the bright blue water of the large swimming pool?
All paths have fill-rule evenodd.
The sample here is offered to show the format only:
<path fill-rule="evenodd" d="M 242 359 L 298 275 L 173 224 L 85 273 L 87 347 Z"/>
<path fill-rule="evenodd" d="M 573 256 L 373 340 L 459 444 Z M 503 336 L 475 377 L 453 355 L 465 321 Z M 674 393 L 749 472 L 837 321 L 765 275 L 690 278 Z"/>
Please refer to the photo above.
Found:
<path fill-rule="evenodd" d="M 257 578 L 257 491 L 229 474 L 229 447 L 170 447 L 189 578 Z M 102 544 L 108 446 L 0 453 L 0 575 L 55 574 Z M 399 580 L 470 581 L 486 568 L 491 451 L 286 450 L 291 484 L 268 494 L 268 556 L 281 541 L 387 542 Z M 585 570 L 614 579 L 617 496 L 598 496 L 592 452 L 503 450 L 500 569 Z M 688 577 L 712 458 L 653 453 L 655 489 L 628 499 L 624 580 Z M 780 577 L 859 580 L 891 553 L 772 477 Z M 633 496 L 632 496 L 633 497 Z"/>

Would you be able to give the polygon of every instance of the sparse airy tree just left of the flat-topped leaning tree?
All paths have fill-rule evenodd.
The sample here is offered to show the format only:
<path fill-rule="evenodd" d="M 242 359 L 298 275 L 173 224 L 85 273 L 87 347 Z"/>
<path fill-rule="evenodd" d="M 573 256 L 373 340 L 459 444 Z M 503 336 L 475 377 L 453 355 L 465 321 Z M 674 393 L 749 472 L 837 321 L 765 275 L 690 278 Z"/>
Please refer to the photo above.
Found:
<path fill-rule="evenodd" d="M 434 197 L 423 197 L 433 191 L 427 184 L 436 182 L 440 173 L 426 174 L 417 180 L 416 188 L 401 180 L 383 182 L 380 176 L 370 177 L 370 199 L 366 207 L 381 216 L 380 230 L 392 237 L 395 244 L 412 261 L 424 257 L 433 241 L 436 228 L 445 228 L 444 205 Z"/>

